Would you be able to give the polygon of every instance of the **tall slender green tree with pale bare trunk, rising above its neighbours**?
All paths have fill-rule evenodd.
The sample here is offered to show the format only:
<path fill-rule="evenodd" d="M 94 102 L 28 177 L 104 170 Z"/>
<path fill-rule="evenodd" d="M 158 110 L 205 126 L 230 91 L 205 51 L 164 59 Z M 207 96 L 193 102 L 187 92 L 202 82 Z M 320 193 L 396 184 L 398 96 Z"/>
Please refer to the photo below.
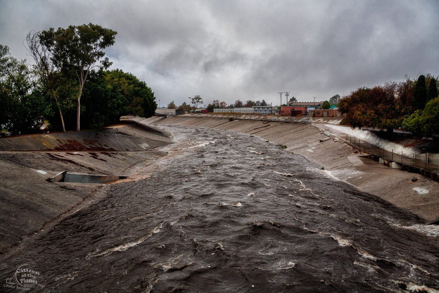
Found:
<path fill-rule="evenodd" d="M 80 99 L 88 73 L 94 67 L 108 68 L 112 62 L 104 58 L 104 49 L 114 44 L 117 32 L 100 25 L 69 25 L 67 29 L 50 28 L 40 34 L 40 43 L 50 52 L 50 59 L 60 70 L 71 70 L 79 82 L 76 109 L 76 131 L 80 131 Z M 101 60 L 104 58 L 103 60 Z M 101 65 L 96 62 L 101 60 Z"/>

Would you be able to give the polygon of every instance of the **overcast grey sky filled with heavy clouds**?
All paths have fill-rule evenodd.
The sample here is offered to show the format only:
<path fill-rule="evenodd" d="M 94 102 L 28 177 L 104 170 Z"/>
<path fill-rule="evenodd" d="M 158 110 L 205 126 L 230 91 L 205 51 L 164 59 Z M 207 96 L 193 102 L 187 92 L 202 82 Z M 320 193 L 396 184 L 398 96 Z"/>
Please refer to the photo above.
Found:
<path fill-rule="evenodd" d="M 118 32 L 111 69 L 144 80 L 161 106 L 194 95 L 279 105 L 284 91 L 323 101 L 439 75 L 438 0 L 0 0 L 0 43 L 18 59 L 29 31 L 90 22 Z"/>

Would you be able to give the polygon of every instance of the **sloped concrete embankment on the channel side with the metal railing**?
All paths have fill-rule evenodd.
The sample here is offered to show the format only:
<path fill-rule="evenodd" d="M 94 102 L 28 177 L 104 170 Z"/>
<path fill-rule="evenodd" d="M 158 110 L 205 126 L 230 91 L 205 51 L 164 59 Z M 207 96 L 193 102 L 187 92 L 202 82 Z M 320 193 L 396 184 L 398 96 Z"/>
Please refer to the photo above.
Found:
<path fill-rule="evenodd" d="M 329 177 L 346 181 L 363 192 L 384 199 L 406 209 L 426 221 L 439 217 L 439 184 L 419 174 L 396 170 L 367 159 L 366 154 L 354 154 L 354 149 L 342 139 L 320 142 L 327 136 L 310 124 L 263 122 L 176 116 L 169 118 L 135 118 L 140 123 L 175 124 L 232 130 L 255 135 L 269 143 L 287 145 L 287 152 L 305 156 L 324 167 L 320 170 Z M 411 182 L 416 175 L 419 178 Z"/>

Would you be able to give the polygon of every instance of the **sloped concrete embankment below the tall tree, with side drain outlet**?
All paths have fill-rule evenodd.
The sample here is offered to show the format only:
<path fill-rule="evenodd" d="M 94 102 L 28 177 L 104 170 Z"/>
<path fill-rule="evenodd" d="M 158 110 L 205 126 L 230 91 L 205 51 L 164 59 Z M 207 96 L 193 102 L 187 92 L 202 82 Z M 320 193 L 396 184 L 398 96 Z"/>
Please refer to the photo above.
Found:
<path fill-rule="evenodd" d="M 0 250 L 44 230 L 45 223 L 105 196 L 107 184 L 48 182 L 60 171 L 130 176 L 164 156 L 168 132 L 124 123 L 100 131 L 0 139 Z M 31 150 L 31 151 L 29 151 Z"/>

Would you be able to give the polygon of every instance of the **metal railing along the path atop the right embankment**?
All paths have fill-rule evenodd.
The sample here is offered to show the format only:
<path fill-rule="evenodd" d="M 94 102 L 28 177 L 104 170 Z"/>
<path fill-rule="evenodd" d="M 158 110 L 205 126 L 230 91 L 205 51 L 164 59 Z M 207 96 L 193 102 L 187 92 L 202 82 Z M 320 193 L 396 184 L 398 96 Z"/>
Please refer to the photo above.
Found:
<path fill-rule="evenodd" d="M 412 166 L 417 169 L 428 170 L 432 173 L 439 174 L 439 154 L 407 154 L 396 152 L 394 149 L 381 148 L 349 134 L 346 134 L 346 142 L 361 152 L 386 159 L 389 162 L 396 162 L 401 165 Z"/>

